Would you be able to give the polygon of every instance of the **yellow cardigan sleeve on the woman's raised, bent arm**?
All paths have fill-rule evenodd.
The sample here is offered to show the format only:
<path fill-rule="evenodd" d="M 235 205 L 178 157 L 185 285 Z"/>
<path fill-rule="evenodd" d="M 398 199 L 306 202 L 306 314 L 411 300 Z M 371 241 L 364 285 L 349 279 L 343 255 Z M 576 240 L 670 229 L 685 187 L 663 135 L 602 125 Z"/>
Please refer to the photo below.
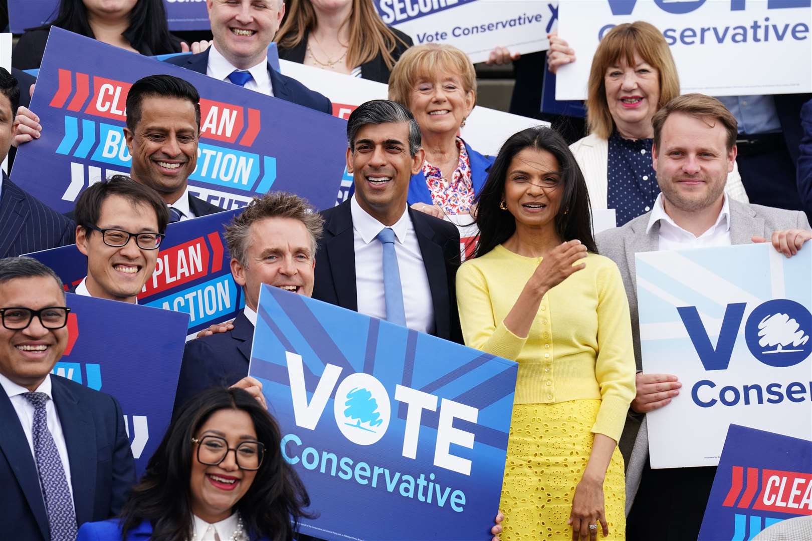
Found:
<path fill-rule="evenodd" d="M 482 269 L 473 261 L 457 271 L 456 294 L 465 346 L 515 361 L 527 337 L 517 337 L 502 321 L 496 323 L 490 295 L 498 292 L 490 291 Z"/>

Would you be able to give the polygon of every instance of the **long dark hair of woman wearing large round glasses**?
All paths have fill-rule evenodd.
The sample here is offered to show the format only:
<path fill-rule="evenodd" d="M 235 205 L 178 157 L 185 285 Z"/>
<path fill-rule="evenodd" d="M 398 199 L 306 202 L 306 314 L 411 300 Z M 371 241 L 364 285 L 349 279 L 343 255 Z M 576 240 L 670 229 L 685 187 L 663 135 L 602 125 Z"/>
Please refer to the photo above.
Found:
<path fill-rule="evenodd" d="M 290 541 L 310 499 L 296 471 L 279 449 L 279 425 L 255 398 L 242 389 L 209 389 L 187 402 L 166 429 L 149 459 L 140 482 L 132 488 L 121 512 L 122 539 L 140 522 L 153 526 L 150 539 L 192 539 L 189 476 L 195 453 L 192 437 L 219 410 L 242 410 L 251 416 L 257 440 L 265 444 L 265 458 L 248 492 L 236 505 L 246 532 L 273 541 Z"/>

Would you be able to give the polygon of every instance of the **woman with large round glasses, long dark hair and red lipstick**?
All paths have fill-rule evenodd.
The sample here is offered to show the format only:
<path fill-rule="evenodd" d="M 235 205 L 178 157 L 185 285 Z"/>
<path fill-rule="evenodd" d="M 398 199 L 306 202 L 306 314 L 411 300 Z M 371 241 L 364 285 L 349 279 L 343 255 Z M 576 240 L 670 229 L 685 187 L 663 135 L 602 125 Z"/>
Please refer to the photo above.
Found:
<path fill-rule="evenodd" d="M 280 440 L 242 389 L 200 393 L 166 429 L 121 516 L 84 524 L 77 541 L 293 539 L 310 500 Z"/>

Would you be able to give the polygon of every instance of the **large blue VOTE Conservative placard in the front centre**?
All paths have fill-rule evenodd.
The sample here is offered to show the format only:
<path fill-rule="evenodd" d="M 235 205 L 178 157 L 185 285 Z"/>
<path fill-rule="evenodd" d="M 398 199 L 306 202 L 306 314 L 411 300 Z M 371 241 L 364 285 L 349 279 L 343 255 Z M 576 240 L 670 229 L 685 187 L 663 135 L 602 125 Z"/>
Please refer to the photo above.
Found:
<path fill-rule="evenodd" d="M 518 365 L 262 286 L 251 365 L 320 539 L 490 539 Z"/>

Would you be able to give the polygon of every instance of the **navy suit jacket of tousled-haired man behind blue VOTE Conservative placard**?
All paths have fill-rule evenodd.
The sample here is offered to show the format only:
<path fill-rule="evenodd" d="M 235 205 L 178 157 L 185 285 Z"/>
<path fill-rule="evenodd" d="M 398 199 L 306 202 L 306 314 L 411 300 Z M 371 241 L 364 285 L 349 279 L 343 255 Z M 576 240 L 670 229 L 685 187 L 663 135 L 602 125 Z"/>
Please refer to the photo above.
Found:
<path fill-rule="evenodd" d="M 240 312 L 234 318 L 234 328 L 227 333 L 214 333 L 186 343 L 173 418 L 197 393 L 218 385 L 229 387 L 248 376 L 252 338 L 253 324 Z"/>

